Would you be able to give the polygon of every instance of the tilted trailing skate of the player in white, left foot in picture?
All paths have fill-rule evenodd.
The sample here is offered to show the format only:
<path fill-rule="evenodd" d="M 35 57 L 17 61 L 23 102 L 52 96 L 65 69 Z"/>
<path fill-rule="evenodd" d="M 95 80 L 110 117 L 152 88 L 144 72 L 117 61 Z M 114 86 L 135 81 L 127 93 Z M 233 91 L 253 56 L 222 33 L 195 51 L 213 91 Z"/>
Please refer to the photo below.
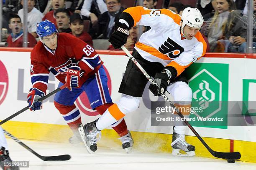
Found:
<path fill-rule="evenodd" d="M 98 120 L 98 119 L 97 119 Z M 101 132 L 96 128 L 97 120 L 87 123 L 83 128 L 78 128 L 84 145 L 89 153 L 93 153 L 97 150 L 97 141 L 101 138 Z M 97 139 L 97 134 L 99 138 Z"/>

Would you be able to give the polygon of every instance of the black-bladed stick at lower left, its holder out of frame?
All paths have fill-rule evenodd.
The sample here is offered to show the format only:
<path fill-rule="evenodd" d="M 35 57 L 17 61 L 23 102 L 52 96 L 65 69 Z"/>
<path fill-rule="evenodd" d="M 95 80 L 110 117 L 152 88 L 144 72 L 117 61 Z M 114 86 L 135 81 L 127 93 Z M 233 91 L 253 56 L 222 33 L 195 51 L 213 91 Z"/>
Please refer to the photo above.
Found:
<path fill-rule="evenodd" d="M 70 155 L 57 155 L 57 156 L 42 156 L 39 155 L 38 153 L 36 153 L 34 150 L 32 150 L 31 148 L 29 148 L 27 145 L 25 145 L 24 143 L 22 143 L 18 138 L 16 138 L 15 136 L 13 136 L 12 134 L 10 134 L 9 132 L 7 132 L 6 130 L 3 129 L 3 132 L 5 133 L 5 135 L 9 136 L 10 138 L 12 138 L 15 142 L 17 142 L 18 144 L 20 144 L 21 146 L 23 146 L 24 148 L 26 148 L 26 150 L 28 150 L 29 152 L 33 153 L 34 155 L 36 155 L 38 158 L 40 158 L 41 160 L 44 161 L 49 161 L 49 160 L 70 160 L 71 156 Z"/>

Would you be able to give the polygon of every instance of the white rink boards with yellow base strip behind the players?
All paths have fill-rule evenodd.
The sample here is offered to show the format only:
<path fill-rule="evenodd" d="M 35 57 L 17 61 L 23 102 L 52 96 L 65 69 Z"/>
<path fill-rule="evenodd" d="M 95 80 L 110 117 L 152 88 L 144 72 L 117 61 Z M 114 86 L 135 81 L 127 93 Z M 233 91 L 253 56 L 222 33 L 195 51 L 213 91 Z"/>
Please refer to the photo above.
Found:
<path fill-rule="evenodd" d="M 3 120 L 27 105 L 26 96 L 31 87 L 29 73 L 31 49 L 21 49 L 20 51 L 8 49 L 9 51 L 7 51 L 6 48 L 1 48 L 0 50 L 2 50 L 0 51 L 2 69 L 0 72 L 0 119 Z M 105 62 L 104 66 L 110 76 L 111 97 L 113 102 L 116 102 L 120 98 L 118 88 L 128 57 L 125 57 L 123 52 L 107 50 L 98 50 L 97 52 Z M 227 80 L 222 82 L 222 85 L 225 84 L 227 87 L 221 93 L 223 96 L 226 95 L 227 100 L 256 100 L 255 95 L 253 95 L 256 94 L 256 60 L 253 55 L 207 54 L 206 56 L 199 60 L 198 63 L 220 64 L 228 69 L 228 73 L 226 73 Z M 245 57 L 249 58 L 245 59 Z M 2 66 L 5 67 L 6 72 Z M 218 67 L 216 67 L 216 72 L 211 72 L 211 74 L 221 73 L 218 73 Z M 49 78 L 49 91 L 56 89 L 57 85 L 57 80 L 51 75 Z M 138 150 L 144 149 L 145 151 L 168 153 L 171 150 L 171 135 L 169 134 L 172 134 L 172 127 L 151 126 L 150 101 L 161 100 L 161 98 L 151 95 L 147 87 L 143 93 L 139 109 L 133 114 L 127 115 L 125 120 L 128 128 L 133 131 L 135 147 Z M 44 102 L 43 110 L 23 112 L 13 118 L 12 121 L 5 123 L 3 127 L 18 138 L 67 142 L 72 133 L 52 102 L 53 97 L 50 97 L 49 100 Z M 83 123 L 97 118 L 97 113 L 90 110 L 90 103 L 87 101 L 86 95 L 78 98 L 76 105 L 80 112 L 83 113 Z M 256 109 L 256 106 L 249 107 L 250 110 Z M 236 110 L 236 114 L 242 114 L 241 112 L 242 109 Z M 244 122 L 248 123 L 246 120 Z M 195 127 L 195 129 L 202 137 L 205 137 L 206 142 L 212 149 L 222 152 L 240 151 L 242 154 L 241 160 L 256 162 L 256 136 L 254 135 L 256 128 L 254 126 L 228 126 L 226 129 Z M 113 130 L 105 130 L 103 136 L 106 135 L 110 139 L 114 139 L 113 142 L 118 143 L 118 140 L 116 140 L 118 136 Z M 187 140 L 196 146 L 196 154 L 198 156 L 211 158 L 211 155 L 189 130 Z M 101 142 L 101 145 L 104 146 L 104 142 Z"/>

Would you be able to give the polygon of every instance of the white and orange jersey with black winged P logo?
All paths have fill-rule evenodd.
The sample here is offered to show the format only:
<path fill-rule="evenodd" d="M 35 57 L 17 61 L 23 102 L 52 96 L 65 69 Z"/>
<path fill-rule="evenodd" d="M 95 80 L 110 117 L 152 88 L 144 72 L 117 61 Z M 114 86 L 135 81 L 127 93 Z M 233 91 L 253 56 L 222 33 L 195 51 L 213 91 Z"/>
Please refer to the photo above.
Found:
<path fill-rule="evenodd" d="M 141 35 L 134 47 L 144 59 L 175 67 L 178 76 L 205 55 L 206 42 L 201 33 L 198 31 L 192 40 L 187 40 L 180 31 L 181 16 L 171 10 L 129 7 L 123 11 L 125 13 L 130 16 L 121 15 L 119 21 L 128 24 L 130 28 L 135 25 L 151 27 Z"/>

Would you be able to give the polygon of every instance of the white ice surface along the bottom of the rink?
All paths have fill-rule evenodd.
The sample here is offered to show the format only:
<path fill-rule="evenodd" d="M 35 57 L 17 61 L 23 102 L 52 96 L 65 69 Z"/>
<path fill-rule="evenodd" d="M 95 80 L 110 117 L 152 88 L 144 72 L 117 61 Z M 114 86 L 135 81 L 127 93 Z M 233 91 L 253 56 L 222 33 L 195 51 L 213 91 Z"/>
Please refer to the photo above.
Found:
<path fill-rule="evenodd" d="M 96 153 L 87 153 L 83 145 L 21 140 L 38 154 L 53 156 L 69 154 L 68 161 L 43 161 L 12 139 L 7 139 L 11 159 L 29 161 L 29 168 L 21 170 L 256 170 L 256 163 L 227 163 L 226 160 L 176 157 L 164 153 L 126 154 L 120 149 L 99 147 Z"/>

